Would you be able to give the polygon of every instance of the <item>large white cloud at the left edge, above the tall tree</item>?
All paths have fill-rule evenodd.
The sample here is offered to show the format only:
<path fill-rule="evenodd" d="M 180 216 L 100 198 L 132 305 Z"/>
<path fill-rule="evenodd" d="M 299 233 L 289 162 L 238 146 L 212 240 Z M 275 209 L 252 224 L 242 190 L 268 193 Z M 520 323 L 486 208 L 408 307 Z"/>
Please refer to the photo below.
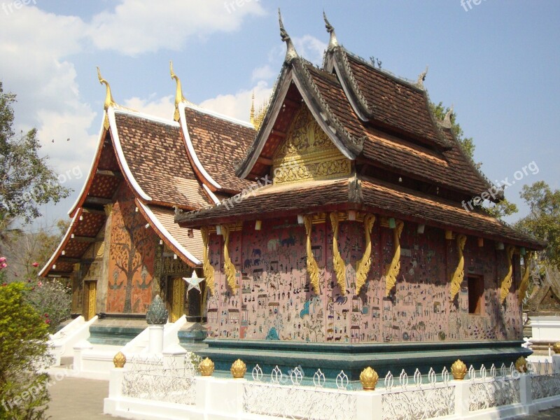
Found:
<path fill-rule="evenodd" d="M 97 144 L 88 134 L 97 113 L 80 97 L 75 66 L 67 59 L 82 50 L 85 30 L 80 18 L 36 7 L 0 13 L 3 88 L 18 95 L 14 128 L 37 127 L 41 155 L 50 156 L 58 174 L 87 167 Z"/>

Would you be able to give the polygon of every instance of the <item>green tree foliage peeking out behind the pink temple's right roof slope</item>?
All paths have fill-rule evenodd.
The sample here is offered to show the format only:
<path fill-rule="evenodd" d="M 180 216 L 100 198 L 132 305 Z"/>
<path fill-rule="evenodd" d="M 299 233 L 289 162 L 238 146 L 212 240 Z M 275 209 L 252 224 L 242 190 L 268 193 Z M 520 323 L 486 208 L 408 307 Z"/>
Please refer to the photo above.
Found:
<path fill-rule="evenodd" d="M 445 115 L 450 111 L 450 108 L 443 106 L 442 102 L 437 105 L 430 104 L 430 106 L 435 118 L 438 120 L 443 120 Z M 461 125 L 457 123 L 456 114 L 454 112 L 451 112 L 451 131 L 455 134 L 455 138 L 463 149 L 465 155 L 467 155 L 472 162 L 472 165 L 475 165 L 477 169 L 480 169 L 480 167 L 482 167 L 482 162 L 475 162 L 475 142 L 472 140 L 472 137 L 465 137 L 465 133 L 463 132 Z M 483 193 L 483 191 L 480 193 Z M 481 206 L 480 208 L 495 218 L 503 218 L 504 216 L 510 216 L 517 213 L 517 205 L 508 201 L 505 197 L 498 203 L 489 202 L 484 204 L 486 204 L 486 206 Z"/>

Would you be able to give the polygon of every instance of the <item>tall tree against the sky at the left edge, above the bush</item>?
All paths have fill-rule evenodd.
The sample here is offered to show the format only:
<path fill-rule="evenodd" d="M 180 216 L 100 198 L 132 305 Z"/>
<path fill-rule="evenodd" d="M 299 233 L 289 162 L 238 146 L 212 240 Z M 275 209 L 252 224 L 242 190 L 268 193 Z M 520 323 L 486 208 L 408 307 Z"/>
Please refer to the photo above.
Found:
<path fill-rule="evenodd" d="M 3 92 L 0 82 L 0 221 L 29 223 L 41 216 L 41 204 L 56 203 L 70 190 L 60 185 L 48 157 L 39 157 L 37 130 L 14 134 L 14 103 L 15 94 Z"/>

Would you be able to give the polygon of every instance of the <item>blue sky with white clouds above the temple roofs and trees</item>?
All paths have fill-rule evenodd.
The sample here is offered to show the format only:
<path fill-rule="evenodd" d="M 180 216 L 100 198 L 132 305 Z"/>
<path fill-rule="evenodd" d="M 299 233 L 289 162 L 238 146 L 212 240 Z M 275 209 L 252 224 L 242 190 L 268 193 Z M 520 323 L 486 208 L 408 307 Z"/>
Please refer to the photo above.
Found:
<path fill-rule="evenodd" d="M 248 120 L 252 92 L 263 104 L 283 62 L 277 8 L 316 64 L 325 10 L 356 55 L 411 80 L 429 66 L 431 101 L 453 104 L 484 174 L 514 181 L 505 196 L 520 211 L 507 221 L 527 214 L 524 184 L 560 188 L 560 1 L 0 0 L 0 80 L 18 95 L 15 129 L 36 127 L 41 155 L 73 189 L 41 207 L 36 226 L 67 217 L 90 169 L 105 98 L 96 66 L 118 104 L 172 119 L 172 60 L 186 99 Z"/>

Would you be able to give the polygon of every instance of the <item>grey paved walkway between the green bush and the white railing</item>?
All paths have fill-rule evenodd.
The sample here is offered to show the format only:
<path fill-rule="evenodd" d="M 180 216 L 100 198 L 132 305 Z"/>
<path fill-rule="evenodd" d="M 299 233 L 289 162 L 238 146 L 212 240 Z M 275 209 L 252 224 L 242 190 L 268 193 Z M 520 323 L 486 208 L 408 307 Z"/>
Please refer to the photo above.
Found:
<path fill-rule="evenodd" d="M 47 416 L 53 420 L 122 419 L 103 414 L 103 399 L 109 395 L 109 381 L 64 377 L 49 388 Z"/>

